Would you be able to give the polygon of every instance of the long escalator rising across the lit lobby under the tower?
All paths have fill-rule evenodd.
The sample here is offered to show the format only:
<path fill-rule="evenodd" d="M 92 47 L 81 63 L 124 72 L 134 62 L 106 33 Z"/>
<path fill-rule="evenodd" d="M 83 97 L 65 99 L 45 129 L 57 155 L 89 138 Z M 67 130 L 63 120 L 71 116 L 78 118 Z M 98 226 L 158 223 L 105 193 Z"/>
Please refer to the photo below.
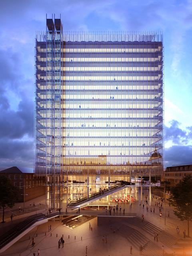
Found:
<path fill-rule="evenodd" d="M 96 193 L 90 195 L 89 197 L 86 196 L 79 200 L 71 201 L 67 206 L 78 208 L 78 207 L 84 206 L 90 202 L 93 202 L 95 200 L 98 200 L 100 198 L 103 198 L 104 196 L 109 196 L 110 194 L 118 192 L 119 190 L 122 190 L 123 188 L 126 188 L 128 186 L 134 186 L 134 185 L 135 185 L 135 183 L 133 183 L 133 182 L 127 182 L 127 181 L 120 180 L 120 181 L 117 181 L 115 186 L 111 186 L 110 188 L 104 189 L 100 192 L 96 192 Z"/>

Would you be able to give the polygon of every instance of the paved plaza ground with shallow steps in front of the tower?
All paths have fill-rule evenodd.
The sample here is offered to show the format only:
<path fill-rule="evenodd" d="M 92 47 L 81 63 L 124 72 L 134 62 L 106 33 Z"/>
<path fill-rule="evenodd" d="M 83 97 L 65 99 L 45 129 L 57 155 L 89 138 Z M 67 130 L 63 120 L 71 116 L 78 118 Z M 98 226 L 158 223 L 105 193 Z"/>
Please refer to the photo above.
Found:
<path fill-rule="evenodd" d="M 144 191 L 144 196 L 146 193 L 147 191 Z M 167 205 L 165 226 L 164 208 L 162 211 L 162 217 L 160 217 L 159 209 L 154 205 L 155 201 L 158 200 L 154 198 L 152 201 L 152 205 L 148 205 L 148 212 L 146 211 L 147 205 L 146 203 L 144 203 L 144 200 L 144 209 L 142 207 L 143 203 L 140 206 L 140 202 L 133 203 L 132 207 L 130 207 L 129 204 L 119 204 L 119 206 L 121 205 L 122 207 L 122 212 L 120 213 L 118 211 L 118 213 L 113 214 L 112 211 L 112 217 L 110 217 L 109 211 L 107 211 L 106 214 L 106 211 L 102 210 L 102 207 L 100 211 L 92 211 L 97 213 L 96 215 L 102 215 L 102 218 L 104 220 L 102 223 L 100 223 L 100 225 L 98 225 L 97 217 L 92 219 L 90 221 L 92 231 L 89 230 L 89 222 L 86 222 L 74 229 L 70 229 L 66 226 L 63 226 L 61 221 L 53 222 L 49 220 L 47 223 L 44 223 L 31 230 L 28 234 L 26 234 L 18 242 L 16 242 L 14 245 L 12 245 L 10 248 L 8 248 L 5 252 L 1 253 L 0 255 L 33 256 L 33 253 L 36 253 L 36 255 L 38 255 L 38 249 L 40 249 L 40 256 L 126 256 L 131 255 L 130 246 L 132 246 L 132 255 L 137 256 L 140 255 L 140 243 L 142 246 L 145 245 L 145 250 L 143 250 L 142 253 L 142 255 L 145 256 L 163 255 L 162 246 L 164 246 L 165 255 L 173 255 L 174 251 L 175 255 L 179 256 L 192 255 L 192 253 L 190 253 L 190 244 L 192 244 L 192 241 L 190 240 L 190 238 L 184 239 L 182 236 L 183 230 L 187 230 L 186 222 L 181 222 L 178 218 L 176 218 L 176 216 L 174 216 L 173 214 L 172 207 L 169 207 Z M 134 215 L 134 213 L 136 213 L 137 217 L 134 217 L 132 219 L 131 217 L 124 217 L 120 219 L 119 216 L 124 216 L 124 208 L 125 215 Z M 150 211 L 150 208 L 152 208 L 152 212 Z M 153 208 L 155 208 L 155 213 L 153 212 Z M 72 213 L 70 209 L 68 209 L 68 213 Z M 76 211 L 73 213 L 76 214 Z M 86 213 L 90 213 L 90 211 L 80 211 L 80 214 Z M 149 229 L 147 233 L 145 230 L 145 226 L 143 228 L 141 226 L 143 225 L 141 224 L 142 221 L 140 218 L 142 214 L 144 214 L 144 221 L 146 223 L 150 222 L 152 225 L 155 225 L 157 228 L 160 228 L 161 230 L 163 230 L 163 232 L 166 232 L 166 234 L 170 234 L 170 236 L 172 237 L 168 237 L 166 235 L 158 242 L 154 241 L 153 228 L 151 229 L 151 231 Z M 48 226 L 50 225 L 52 226 L 52 230 L 48 231 Z M 176 234 L 176 226 L 180 228 L 179 235 Z M 0 227 L 2 227 L 2 224 Z M 60 246 L 59 249 L 58 240 L 62 235 L 65 243 L 64 247 L 62 248 L 62 246 Z M 33 236 L 35 242 L 34 247 L 32 247 Z M 181 244 L 182 248 L 180 250 L 177 250 L 177 246 L 174 246 L 175 242 L 179 242 Z M 184 251 L 186 251 L 186 254 L 184 254 Z"/>

